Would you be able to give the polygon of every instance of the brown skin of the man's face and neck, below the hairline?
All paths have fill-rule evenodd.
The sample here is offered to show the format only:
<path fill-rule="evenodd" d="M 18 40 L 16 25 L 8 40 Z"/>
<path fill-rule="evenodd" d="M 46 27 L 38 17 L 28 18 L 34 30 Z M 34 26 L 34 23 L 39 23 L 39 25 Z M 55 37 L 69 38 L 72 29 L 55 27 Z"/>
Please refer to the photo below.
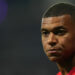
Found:
<path fill-rule="evenodd" d="M 42 18 L 41 36 L 49 60 L 67 75 L 75 66 L 75 22 L 71 15 Z"/>

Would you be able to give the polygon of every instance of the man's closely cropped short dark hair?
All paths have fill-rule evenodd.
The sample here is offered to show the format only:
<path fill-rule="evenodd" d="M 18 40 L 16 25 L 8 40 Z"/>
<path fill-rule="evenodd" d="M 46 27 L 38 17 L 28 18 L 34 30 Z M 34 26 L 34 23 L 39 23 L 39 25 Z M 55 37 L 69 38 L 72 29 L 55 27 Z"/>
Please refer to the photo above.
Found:
<path fill-rule="evenodd" d="M 58 3 L 49 7 L 42 18 L 70 14 L 75 19 L 75 6 L 68 3 Z"/>

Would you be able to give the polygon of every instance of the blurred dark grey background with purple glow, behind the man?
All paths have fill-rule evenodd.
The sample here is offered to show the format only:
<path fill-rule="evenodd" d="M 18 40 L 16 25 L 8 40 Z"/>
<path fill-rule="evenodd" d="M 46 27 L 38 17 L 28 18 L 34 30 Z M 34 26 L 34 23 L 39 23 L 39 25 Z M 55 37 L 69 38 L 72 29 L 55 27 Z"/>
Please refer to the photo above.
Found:
<path fill-rule="evenodd" d="M 49 5 L 74 0 L 0 0 L 0 75 L 56 75 L 41 44 L 41 18 Z"/>

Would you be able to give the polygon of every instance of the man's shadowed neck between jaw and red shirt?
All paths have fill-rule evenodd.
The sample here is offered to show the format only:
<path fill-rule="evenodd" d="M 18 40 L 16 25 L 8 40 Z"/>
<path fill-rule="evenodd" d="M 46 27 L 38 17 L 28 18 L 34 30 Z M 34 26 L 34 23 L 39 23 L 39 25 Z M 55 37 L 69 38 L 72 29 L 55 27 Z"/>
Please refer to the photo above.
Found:
<path fill-rule="evenodd" d="M 62 75 L 67 75 L 70 70 L 75 66 L 75 56 L 68 60 L 57 62 L 57 66 Z"/>

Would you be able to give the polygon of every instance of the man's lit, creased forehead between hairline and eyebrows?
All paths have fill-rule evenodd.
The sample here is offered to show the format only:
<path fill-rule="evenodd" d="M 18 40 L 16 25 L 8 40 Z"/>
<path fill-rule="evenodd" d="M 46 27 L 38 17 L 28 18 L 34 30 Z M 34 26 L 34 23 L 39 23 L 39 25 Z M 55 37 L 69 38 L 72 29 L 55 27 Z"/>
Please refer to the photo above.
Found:
<path fill-rule="evenodd" d="M 42 18 L 42 25 L 41 28 L 46 27 L 57 27 L 57 26 L 72 26 L 72 18 L 71 15 L 62 15 L 62 16 L 55 16 L 55 17 L 48 17 L 48 18 Z M 72 27 L 71 27 L 72 28 Z"/>

